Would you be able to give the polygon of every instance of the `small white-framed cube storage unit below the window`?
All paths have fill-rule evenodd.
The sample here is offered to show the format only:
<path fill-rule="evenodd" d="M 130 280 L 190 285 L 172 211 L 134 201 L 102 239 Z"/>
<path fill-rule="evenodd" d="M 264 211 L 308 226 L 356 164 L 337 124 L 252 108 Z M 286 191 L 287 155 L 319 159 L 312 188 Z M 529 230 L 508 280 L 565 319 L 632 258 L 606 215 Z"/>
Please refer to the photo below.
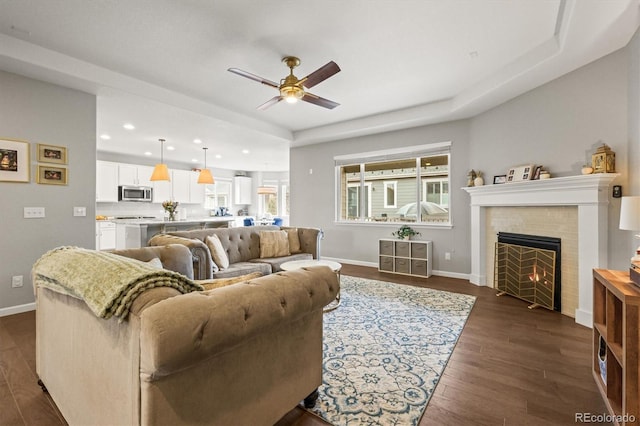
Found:
<path fill-rule="evenodd" d="M 430 277 L 431 246 L 431 241 L 382 239 L 378 242 L 378 270 Z"/>

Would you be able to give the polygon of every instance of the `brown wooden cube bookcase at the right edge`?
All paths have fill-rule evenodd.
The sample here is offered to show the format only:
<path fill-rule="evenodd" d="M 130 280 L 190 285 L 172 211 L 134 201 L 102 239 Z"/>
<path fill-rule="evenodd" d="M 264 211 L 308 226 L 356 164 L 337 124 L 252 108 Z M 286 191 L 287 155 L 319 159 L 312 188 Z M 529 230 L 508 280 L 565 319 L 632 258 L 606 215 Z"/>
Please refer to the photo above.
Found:
<path fill-rule="evenodd" d="M 640 424 L 640 288 L 629 273 L 593 270 L 593 378 L 615 425 Z"/>

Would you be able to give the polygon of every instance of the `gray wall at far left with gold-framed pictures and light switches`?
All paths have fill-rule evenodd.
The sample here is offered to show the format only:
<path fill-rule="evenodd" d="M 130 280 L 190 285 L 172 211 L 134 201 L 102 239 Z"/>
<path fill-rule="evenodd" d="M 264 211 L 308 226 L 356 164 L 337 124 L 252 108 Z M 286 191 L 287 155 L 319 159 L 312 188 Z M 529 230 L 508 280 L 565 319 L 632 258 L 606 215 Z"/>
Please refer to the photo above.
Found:
<path fill-rule="evenodd" d="M 95 246 L 96 98 L 0 71 L 0 137 L 30 142 L 31 181 L 0 182 L 0 315 L 32 303 L 31 266 L 61 245 Z M 67 186 L 36 183 L 36 144 L 68 149 Z M 86 207 L 74 217 L 73 207 Z M 24 219 L 24 207 L 44 207 L 44 219 Z M 24 276 L 22 288 L 11 277 Z M 5 311 L 6 313 L 6 311 Z"/>

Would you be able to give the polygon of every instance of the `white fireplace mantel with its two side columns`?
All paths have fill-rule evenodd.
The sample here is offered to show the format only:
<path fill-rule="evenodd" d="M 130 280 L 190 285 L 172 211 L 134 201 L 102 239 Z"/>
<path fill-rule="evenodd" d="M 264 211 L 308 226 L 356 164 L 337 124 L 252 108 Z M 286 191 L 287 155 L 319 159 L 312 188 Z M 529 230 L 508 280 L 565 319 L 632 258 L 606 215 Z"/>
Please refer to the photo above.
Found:
<path fill-rule="evenodd" d="M 608 267 L 609 186 L 617 176 L 601 173 L 463 188 L 471 196 L 470 281 L 487 285 L 487 208 L 576 206 L 579 262 L 575 319 L 578 324 L 591 327 L 591 270 Z"/>

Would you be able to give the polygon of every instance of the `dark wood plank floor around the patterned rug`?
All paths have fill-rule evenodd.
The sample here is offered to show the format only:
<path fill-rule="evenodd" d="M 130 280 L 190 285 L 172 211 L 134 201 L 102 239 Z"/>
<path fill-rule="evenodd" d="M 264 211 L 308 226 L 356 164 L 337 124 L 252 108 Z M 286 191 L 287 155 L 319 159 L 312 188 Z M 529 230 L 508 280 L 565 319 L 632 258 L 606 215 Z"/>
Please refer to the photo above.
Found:
<path fill-rule="evenodd" d="M 572 425 L 576 413 L 606 413 L 591 376 L 590 330 L 572 318 L 464 280 L 352 265 L 342 273 L 477 296 L 421 426 Z M 0 318 L 0 425 L 66 424 L 36 380 L 34 312 Z M 277 425 L 325 423 L 296 408 Z"/>

